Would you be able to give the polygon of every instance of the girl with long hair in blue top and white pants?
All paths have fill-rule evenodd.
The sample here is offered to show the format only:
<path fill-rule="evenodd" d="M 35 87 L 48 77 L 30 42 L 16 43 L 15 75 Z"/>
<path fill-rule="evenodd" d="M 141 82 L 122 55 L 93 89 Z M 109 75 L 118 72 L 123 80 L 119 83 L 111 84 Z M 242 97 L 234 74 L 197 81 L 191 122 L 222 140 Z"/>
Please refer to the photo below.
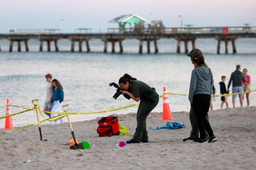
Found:
<path fill-rule="evenodd" d="M 57 79 L 53 79 L 51 81 L 52 84 L 52 90 L 53 90 L 53 97 L 51 99 L 51 102 L 53 102 L 53 108 L 51 112 L 62 112 L 61 106 L 63 105 L 63 99 L 64 99 L 64 92 L 63 87 L 61 83 Z M 58 116 L 60 114 L 51 113 L 51 117 Z M 60 119 L 61 123 L 65 123 L 64 118 Z M 51 121 L 50 124 L 55 124 L 56 121 Z"/>

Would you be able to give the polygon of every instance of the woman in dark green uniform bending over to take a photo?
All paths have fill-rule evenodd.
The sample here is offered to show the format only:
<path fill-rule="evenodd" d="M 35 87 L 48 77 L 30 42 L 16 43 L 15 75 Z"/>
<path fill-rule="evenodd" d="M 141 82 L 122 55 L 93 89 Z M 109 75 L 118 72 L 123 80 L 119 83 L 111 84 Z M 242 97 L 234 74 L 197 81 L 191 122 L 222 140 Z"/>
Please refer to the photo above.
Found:
<path fill-rule="evenodd" d="M 149 142 L 146 129 L 146 118 L 149 113 L 157 106 L 159 95 L 154 88 L 151 88 L 146 83 L 131 77 L 129 74 L 124 74 L 119 79 L 119 86 L 124 89 L 122 95 L 127 99 L 132 98 L 135 101 L 140 101 L 137 111 L 137 128 L 133 135 L 133 139 L 126 143 L 146 143 Z"/>

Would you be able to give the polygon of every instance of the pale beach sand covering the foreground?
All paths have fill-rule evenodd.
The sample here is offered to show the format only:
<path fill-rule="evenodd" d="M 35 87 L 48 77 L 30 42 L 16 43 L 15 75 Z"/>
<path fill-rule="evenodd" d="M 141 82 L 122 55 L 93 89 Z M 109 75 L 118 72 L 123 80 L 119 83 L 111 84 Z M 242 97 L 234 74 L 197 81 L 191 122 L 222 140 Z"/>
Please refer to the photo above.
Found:
<path fill-rule="evenodd" d="M 40 141 L 38 126 L 28 127 L 0 136 L 0 169 L 255 169 L 255 113 L 256 107 L 210 111 L 210 124 L 218 141 L 207 144 L 182 142 L 191 130 L 188 112 L 173 113 L 176 121 L 187 128 L 148 130 L 149 143 L 123 148 L 115 144 L 132 135 L 98 137 L 99 118 L 72 123 L 78 141 L 91 143 L 88 150 L 56 145 L 72 138 L 68 123 L 42 125 L 47 142 Z M 134 132 L 135 113 L 117 116 L 122 125 Z M 161 117 L 161 113 L 151 113 L 147 128 L 165 126 L 167 121 L 159 121 Z M 34 157 L 33 162 L 23 163 L 30 157 Z"/>

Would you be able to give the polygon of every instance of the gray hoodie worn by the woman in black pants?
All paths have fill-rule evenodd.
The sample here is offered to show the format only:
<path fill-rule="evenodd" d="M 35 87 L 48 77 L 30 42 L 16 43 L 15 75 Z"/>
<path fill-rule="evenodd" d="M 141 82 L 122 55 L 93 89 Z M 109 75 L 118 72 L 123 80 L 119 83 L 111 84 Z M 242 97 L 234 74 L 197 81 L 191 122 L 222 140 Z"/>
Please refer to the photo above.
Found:
<path fill-rule="evenodd" d="M 189 101 L 193 103 L 195 94 L 211 95 L 213 92 L 213 74 L 211 69 L 206 67 L 196 67 L 191 73 L 189 87 Z"/>

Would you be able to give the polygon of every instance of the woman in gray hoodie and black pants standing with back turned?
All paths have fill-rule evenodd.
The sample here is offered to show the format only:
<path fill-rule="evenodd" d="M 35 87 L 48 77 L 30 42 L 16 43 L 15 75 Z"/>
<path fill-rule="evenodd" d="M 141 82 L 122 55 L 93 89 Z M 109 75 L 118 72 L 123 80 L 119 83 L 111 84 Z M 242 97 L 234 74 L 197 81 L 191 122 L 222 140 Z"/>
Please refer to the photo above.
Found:
<path fill-rule="evenodd" d="M 193 64 L 195 66 L 191 74 L 190 88 L 189 88 L 189 101 L 195 111 L 197 117 L 197 125 L 200 133 L 200 138 L 194 142 L 207 143 L 205 138 L 205 129 L 209 133 L 209 141 L 217 141 L 213 134 L 213 130 L 209 122 L 206 120 L 206 114 L 210 107 L 210 98 L 213 90 L 213 74 L 211 69 L 203 66 L 205 57 L 199 55 L 193 57 Z"/>

